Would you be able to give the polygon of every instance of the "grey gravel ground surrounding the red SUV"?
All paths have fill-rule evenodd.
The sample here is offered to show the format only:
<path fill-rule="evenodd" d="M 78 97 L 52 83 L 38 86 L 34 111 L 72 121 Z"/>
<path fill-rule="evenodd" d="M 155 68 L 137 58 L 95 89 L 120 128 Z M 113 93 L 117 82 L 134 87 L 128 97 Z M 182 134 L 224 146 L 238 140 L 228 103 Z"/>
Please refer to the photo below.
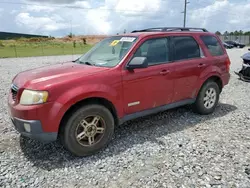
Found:
<path fill-rule="evenodd" d="M 228 50 L 232 71 L 246 51 Z M 250 83 L 234 74 L 214 114 L 182 107 L 128 122 L 91 157 L 21 138 L 7 114 L 12 78 L 72 58 L 0 59 L 0 187 L 250 187 Z"/>

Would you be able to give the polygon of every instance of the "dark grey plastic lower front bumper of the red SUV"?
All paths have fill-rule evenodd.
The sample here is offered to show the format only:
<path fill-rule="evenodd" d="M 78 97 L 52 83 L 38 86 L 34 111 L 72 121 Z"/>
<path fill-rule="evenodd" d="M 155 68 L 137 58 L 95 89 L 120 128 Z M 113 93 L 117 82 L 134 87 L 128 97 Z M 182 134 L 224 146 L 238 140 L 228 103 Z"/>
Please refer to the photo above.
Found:
<path fill-rule="evenodd" d="M 23 120 L 11 118 L 15 129 L 25 137 L 49 143 L 57 139 L 57 132 L 43 132 L 41 122 L 38 120 Z"/>

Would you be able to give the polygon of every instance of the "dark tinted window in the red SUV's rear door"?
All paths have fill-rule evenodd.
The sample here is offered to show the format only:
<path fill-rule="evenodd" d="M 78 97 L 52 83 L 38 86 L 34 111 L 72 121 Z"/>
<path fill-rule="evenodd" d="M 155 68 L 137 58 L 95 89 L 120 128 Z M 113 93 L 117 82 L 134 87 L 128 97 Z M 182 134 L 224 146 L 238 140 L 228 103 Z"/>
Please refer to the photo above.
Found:
<path fill-rule="evenodd" d="M 200 58 L 200 47 L 193 37 L 174 37 L 175 60 Z"/>

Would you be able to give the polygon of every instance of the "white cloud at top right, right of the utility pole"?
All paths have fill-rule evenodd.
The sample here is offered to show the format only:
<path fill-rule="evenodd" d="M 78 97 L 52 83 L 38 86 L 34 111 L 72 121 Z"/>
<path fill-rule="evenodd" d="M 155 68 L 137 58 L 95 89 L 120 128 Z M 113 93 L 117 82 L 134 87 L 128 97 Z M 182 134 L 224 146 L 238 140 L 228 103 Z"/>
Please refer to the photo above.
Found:
<path fill-rule="evenodd" d="M 189 23 L 213 31 L 250 30 L 250 4 L 217 0 L 192 11 Z"/>

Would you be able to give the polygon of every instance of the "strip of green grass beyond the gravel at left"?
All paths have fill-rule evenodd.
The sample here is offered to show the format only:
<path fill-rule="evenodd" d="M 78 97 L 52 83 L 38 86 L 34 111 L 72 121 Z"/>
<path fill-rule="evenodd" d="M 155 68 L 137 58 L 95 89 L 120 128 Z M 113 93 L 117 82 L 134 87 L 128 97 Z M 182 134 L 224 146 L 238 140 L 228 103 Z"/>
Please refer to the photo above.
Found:
<path fill-rule="evenodd" d="M 0 58 L 84 54 L 91 47 L 81 42 L 77 42 L 74 47 L 73 42 L 1 41 Z"/>

